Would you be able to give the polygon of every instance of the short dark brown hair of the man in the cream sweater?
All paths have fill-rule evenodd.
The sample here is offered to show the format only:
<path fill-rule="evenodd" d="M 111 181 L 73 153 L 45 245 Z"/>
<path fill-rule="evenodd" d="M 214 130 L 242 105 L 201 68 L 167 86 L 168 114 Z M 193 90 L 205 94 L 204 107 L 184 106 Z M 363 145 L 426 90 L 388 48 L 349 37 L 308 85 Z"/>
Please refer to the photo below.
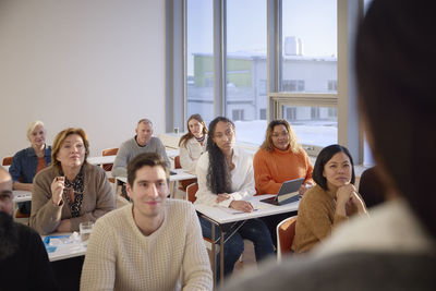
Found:
<path fill-rule="evenodd" d="M 133 182 L 136 179 L 136 171 L 143 168 L 144 166 L 149 166 L 149 167 L 156 167 L 160 166 L 162 167 L 166 177 L 167 177 L 167 183 L 169 182 L 169 169 L 168 165 L 160 156 L 159 154 L 156 153 L 144 153 L 137 155 L 134 159 L 132 159 L 128 163 L 128 182 L 129 184 L 133 187 Z"/>

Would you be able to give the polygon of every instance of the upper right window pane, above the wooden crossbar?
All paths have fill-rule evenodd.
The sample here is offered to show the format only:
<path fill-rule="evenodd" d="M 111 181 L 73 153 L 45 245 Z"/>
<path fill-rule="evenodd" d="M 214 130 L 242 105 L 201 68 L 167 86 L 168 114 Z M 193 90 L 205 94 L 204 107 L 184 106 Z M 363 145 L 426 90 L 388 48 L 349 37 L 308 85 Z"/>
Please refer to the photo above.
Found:
<path fill-rule="evenodd" d="M 337 0 L 282 0 L 281 92 L 283 81 L 303 81 L 304 92 L 326 93 L 338 78 Z"/>

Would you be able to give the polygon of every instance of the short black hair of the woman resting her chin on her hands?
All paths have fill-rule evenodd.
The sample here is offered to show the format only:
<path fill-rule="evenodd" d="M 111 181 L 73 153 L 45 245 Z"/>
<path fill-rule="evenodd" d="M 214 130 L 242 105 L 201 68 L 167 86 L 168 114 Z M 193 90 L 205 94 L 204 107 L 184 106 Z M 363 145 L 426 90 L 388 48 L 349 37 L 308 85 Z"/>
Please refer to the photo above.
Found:
<path fill-rule="evenodd" d="M 324 166 L 338 153 L 343 153 L 348 156 L 351 162 L 351 184 L 354 184 L 355 174 L 354 174 L 354 162 L 351 157 L 350 151 L 347 147 L 341 145 L 329 145 L 323 148 L 316 158 L 314 171 L 312 173 L 312 179 L 318 184 L 322 189 L 327 190 L 327 179 L 323 175 Z"/>

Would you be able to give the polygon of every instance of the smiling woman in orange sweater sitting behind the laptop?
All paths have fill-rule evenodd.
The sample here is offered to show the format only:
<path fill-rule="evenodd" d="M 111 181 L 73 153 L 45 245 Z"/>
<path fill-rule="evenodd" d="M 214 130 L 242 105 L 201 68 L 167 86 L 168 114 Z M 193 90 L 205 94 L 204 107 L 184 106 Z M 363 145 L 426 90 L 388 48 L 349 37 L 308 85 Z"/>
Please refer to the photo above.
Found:
<path fill-rule="evenodd" d="M 298 144 L 291 125 L 286 120 L 272 120 L 266 130 L 265 141 L 253 160 L 257 195 L 277 194 L 283 182 L 305 178 L 300 194 L 312 186 L 313 166 L 307 154 Z M 277 243 L 277 225 L 294 213 L 265 217 L 272 242 Z"/>

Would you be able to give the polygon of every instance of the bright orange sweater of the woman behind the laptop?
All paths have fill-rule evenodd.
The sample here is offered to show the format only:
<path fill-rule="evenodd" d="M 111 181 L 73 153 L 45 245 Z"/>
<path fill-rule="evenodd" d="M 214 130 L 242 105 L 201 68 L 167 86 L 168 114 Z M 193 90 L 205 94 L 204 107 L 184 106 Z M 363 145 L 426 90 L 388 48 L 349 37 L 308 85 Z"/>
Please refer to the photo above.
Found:
<path fill-rule="evenodd" d="M 304 183 L 313 182 L 313 166 L 302 148 L 298 154 L 290 149 L 274 148 L 269 153 L 259 148 L 254 155 L 253 167 L 257 195 L 277 194 L 283 182 L 298 178 L 305 178 Z"/>

